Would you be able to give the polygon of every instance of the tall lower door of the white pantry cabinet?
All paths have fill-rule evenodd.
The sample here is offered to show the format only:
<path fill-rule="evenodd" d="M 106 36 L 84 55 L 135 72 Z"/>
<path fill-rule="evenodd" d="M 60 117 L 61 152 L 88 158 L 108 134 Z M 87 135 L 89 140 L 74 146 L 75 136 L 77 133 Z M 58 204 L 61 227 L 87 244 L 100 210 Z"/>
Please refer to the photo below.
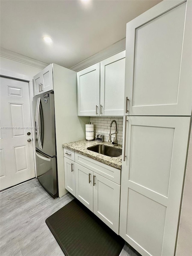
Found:
<path fill-rule="evenodd" d="M 173 256 L 190 117 L 128 117 L 119 234 L 143 256 Z"/>

